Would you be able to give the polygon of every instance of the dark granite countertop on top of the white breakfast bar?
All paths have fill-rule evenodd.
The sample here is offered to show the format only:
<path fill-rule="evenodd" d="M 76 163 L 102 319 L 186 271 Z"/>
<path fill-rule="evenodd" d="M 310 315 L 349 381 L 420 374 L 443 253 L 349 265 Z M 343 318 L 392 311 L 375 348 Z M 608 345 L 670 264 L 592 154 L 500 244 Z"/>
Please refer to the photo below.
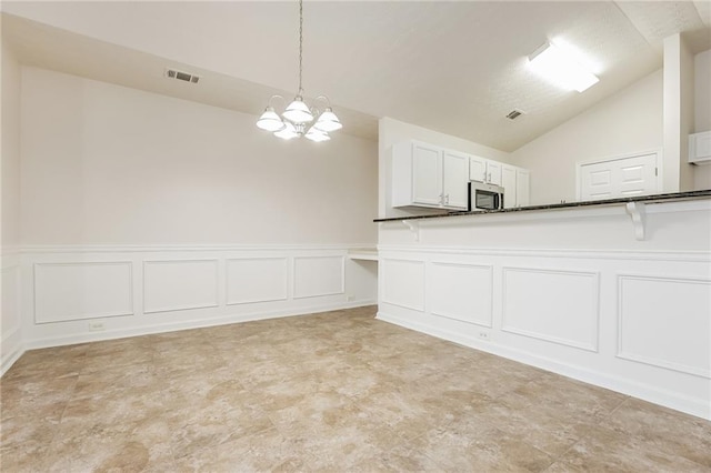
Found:
<path fill-rule="evenodd" d="M 605 200 L 590 200 L 581 202 L 565 202 L 565 203 L 550 203 L 543 205 L 528 205 L 517 207 L 512 209 L 501 210 L 477 210 L 472 212 L 467 211 L 450 211 L 447 213 L 434 213 L 428 215 L 407 215 L 407 217 L 390 217 L 387 219 L 374 219 L 373 222 L 394 222 L 402 220 L 422 220 L 422 219 L 441 219 L 443 217 L 461 217 L 461 215 L 481 215 L 490 213 L 511 213 L 511 212 L 529 212 L 534 210 L 558 210 L 558 209 L 573 209 L 577 207 L 593 207 L 593 205 L 613 205 L 629 202 L 643 202 L 643 203 L 657 203 L 669 201 L 682 201 L 682 200 L 695 200 L 695 199 L 709 199 L 711 198 L 711 189 L 703 191 L 689 191 L 689 192 L 673 192 L 667 194 L 653 194 L 653 195 L 638 195 L 631 198 L 617 198 Z"/>

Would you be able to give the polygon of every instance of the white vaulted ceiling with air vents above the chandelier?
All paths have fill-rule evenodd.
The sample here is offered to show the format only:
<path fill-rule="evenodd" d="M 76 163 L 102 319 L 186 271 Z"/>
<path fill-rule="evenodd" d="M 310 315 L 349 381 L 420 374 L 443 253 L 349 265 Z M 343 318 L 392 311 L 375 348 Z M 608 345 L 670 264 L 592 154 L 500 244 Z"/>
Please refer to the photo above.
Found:
<path fill-rule="evenodd" d="M 309 1 L 306 94 L 327 94 L 343 132 L 377 138 L 391 117 L 512 151 L 662 66 L 684 32 L 711 49 L 711 3 L 623 1 Z M 2 37 L 21 62 L 258 115 L 293 95 L 298 2 L 3 1 Z M 532 76 L 547 40 L 589 58 L 600 82 L 567 92 Z M 163 78 L 166 67 L 201 76 Z M 513 109 L 527 114 L 510 121 Z"/>

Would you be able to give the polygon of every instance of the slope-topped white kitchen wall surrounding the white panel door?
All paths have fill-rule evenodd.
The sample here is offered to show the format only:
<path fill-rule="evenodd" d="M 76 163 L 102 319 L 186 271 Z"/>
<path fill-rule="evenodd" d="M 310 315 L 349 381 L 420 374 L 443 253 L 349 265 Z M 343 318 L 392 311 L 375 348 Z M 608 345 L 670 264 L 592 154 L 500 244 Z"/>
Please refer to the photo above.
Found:
<path fill-rule="evenodd" d="M 662 71 L 641 79 L 511 153 L 531 170 L 531 204 L 575 200 L 575 163 L 663 145 Z"/>

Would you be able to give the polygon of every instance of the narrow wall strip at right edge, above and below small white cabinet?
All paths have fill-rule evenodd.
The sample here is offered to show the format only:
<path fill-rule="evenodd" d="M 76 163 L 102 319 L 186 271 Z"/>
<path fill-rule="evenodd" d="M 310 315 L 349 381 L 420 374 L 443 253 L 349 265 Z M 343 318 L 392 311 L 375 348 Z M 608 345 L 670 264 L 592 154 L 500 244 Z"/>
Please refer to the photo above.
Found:
<path fill-rule="evenodd" d="M 694 56 L 694 132 L 711 131 L 711 49 Z M 711 165 L 697 165 L 694 189 L 711 189 Z"/>

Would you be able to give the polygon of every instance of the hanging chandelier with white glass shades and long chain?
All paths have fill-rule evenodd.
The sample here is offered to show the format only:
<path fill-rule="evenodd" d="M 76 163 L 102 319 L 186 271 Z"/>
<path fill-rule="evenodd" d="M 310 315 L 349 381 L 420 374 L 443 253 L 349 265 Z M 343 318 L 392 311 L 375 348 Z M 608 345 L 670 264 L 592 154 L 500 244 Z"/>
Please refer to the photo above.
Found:
<path fill-rule="evenodd" d="M 297 137 L 306 137 L 312 141 L 330 140 L 330 131 L 341 129 L 343 125 L 339 121 L 331 101 L 326 95 L 319 95 L 314 99 L 324 100 L 326 109 L 321 112 L 316 107 L 309 108 L 303 101 L 303 88 L 301 87 L 301 76 L 303 72 L 303 0 L 299 0 L 299 92 L 293 101 L 287 107 L 284 112 L 279 117 L 272 107 L 273 99 L 284 100 L 281 95 L 272 95 L 267 103 L 264 112 L 257 121 L 257 127 L 262 130 L 271 131 L 276 137 L 284 140 L 291 140 Z M 316 119 L 316 122 L 313 120 Z M 313 122 L 313 124 L 309 124 Z"/>

